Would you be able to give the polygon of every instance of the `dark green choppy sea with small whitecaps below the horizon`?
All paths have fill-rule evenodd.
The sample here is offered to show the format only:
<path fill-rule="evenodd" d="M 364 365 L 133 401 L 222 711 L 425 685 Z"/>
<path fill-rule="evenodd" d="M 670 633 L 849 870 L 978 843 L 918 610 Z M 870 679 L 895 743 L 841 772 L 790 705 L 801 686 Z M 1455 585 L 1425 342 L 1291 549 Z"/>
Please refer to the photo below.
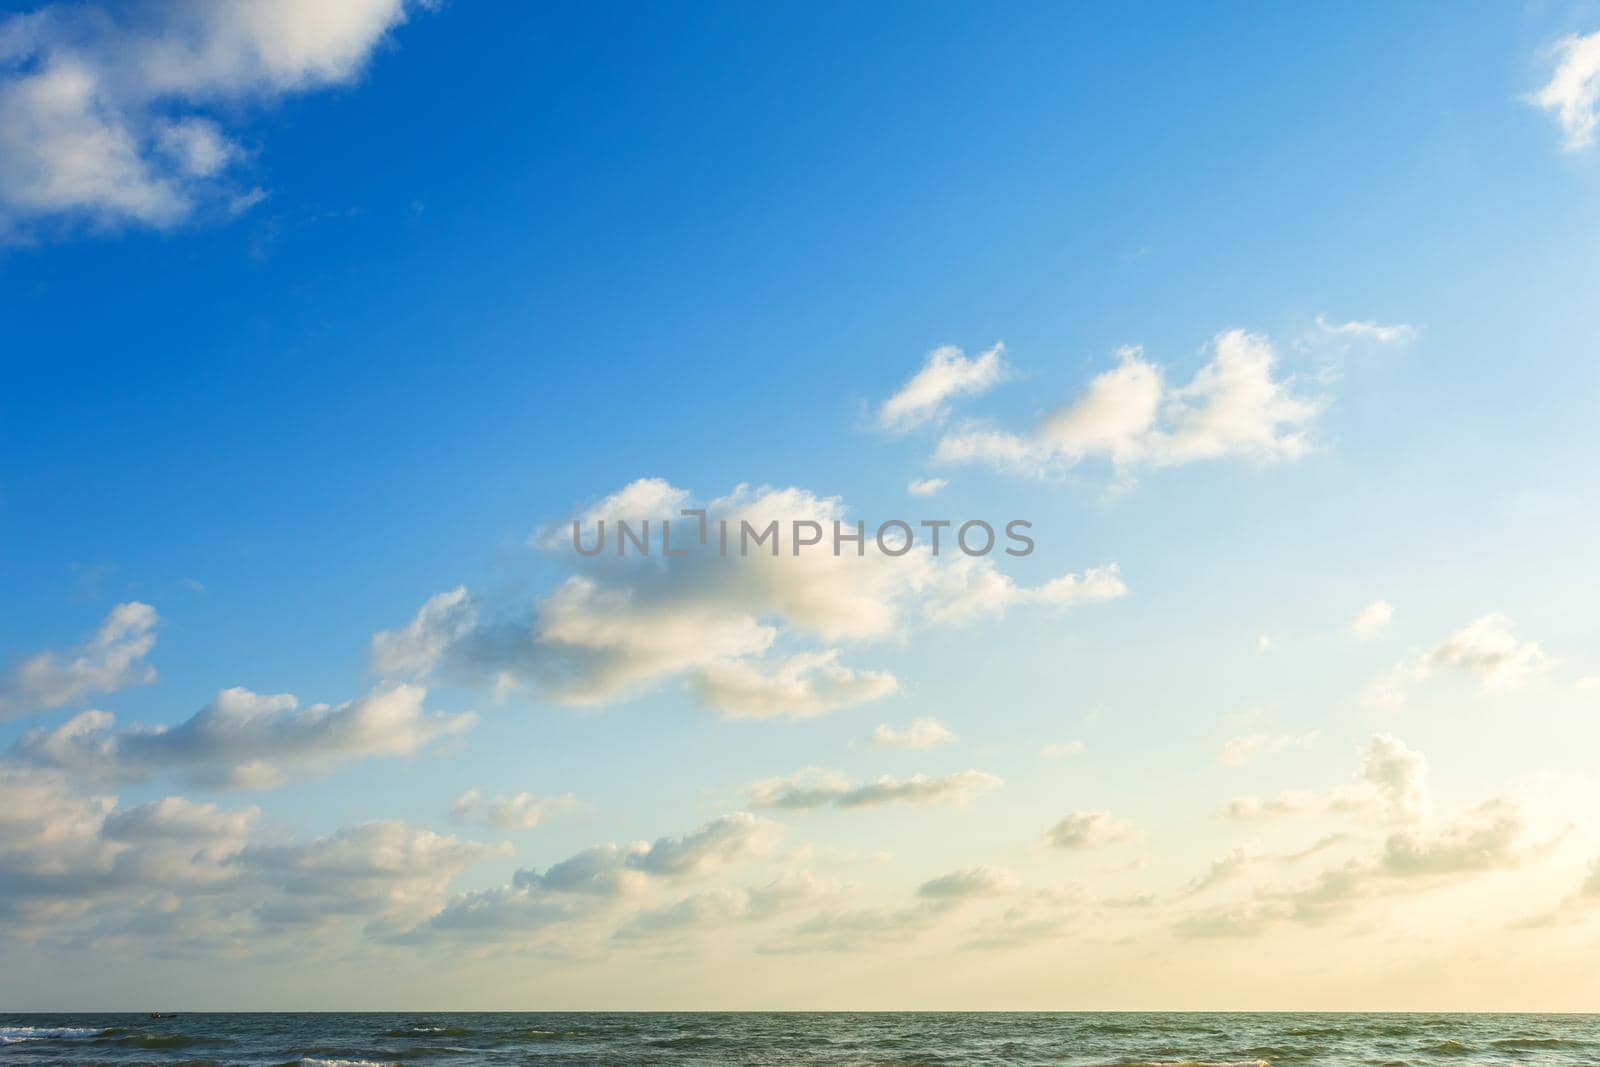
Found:
<path fill-rule="evenodd" d="M 0 1064 L 1600 1064 L 1600 1016 L 0 1014 Z"/>

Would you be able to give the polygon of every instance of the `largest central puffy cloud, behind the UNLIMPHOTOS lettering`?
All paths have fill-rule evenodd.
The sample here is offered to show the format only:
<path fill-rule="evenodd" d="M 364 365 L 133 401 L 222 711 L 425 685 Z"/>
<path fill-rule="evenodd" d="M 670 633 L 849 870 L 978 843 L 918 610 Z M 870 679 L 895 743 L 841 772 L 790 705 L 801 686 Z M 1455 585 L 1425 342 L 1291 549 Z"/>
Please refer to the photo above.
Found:
<path fill-rule="evenodd" d="M 830 539 L 835 523 L 853 534 L 859 522 L 837 498 L 798 488 L 738 486 L 683 517 L 693 502 L 661 478 L 624 486 L 574 520 L 586 544 L 605 523 L 608 549 L 597 555 L 573 549 L 571 526 L 541 530 L 533 544 L 571 568 L 565 581 L 502 619 L 480 617 L 461 590 L 435 595 L 411 622 L 373 638 L 374 669 L 502 691 L 531 686 L 566 704 L 602 704 L 678 678 L 728 715 L 808 717 L 898 688 L 888 673 L 838 662 L 842 641 L 896 640 L 917 624 L 960 625 L 1024 605 L 1064 608 L 1126 592 L 1115 563 L 1018 585 L 990 558 L 960 553 L 949 530 L 938 555 L 930 536 L 904 555 L 894 545 L 885 552 L 870 530 L 859 553 L 846 544 L 835 555 L 830 542 L 795 553 L 787 539 L 797 523 Z M 674 520 L 672 555 L 662 550 L 664 520 Z M 650 555 L 614 550 L 621 522 L 650 537 Z M 741 555 L 744 523 L 774 525 L 786 550 Z M 824 648 L 773 657 L 779 640 Z"/>

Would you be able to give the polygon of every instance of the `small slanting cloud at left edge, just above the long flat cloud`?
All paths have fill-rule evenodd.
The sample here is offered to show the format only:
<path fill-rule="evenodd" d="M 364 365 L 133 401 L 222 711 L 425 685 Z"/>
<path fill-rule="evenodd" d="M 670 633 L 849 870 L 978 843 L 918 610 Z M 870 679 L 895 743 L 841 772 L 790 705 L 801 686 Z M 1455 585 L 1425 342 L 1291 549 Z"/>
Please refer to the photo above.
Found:
<path fill-rule="evenodd" d="M 37 653 L 0 673 L 0 721 L 155 681 L 155 667 L 144 662 L 155 625 L 155 608 L 131 600 L 77 648 Z"/>

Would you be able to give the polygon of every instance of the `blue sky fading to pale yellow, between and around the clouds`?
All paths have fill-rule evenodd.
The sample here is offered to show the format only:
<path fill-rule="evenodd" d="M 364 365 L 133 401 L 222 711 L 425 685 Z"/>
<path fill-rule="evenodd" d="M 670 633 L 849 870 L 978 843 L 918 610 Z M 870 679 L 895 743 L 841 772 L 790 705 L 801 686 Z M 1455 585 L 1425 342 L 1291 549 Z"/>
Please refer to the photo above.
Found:
<path fill-rule="evenodd" d="M 1360 1006 L 1434 1006 L 1416 984 L 1371 985 L 1376 949 L 1333 945 L 1426 907 L 1438 918 L 1424 955 L 1448 973 L 1483 950 L 1456 936 L 1451 909 L 1496 885 L 1504 899 L 1493 880 L 1514 875 L 1525 886 L 1507 923 L 1549 912 L 1550 928 L 1574 925 L 1592 945 L 1587 913 L 1562 902 L 1582 899 L 1600 837 L 1560 827 L 1595 797 L 1587 753 L 1600 741 L 1584 563 L 1600 531 L 1600 157 L 1528 98 L 1558 69 L 1557 42 L 1600 30 L 1600 8 L 357 8 L 368 22 L 322 27 L 344 34 L 333 59 L 285 59 L 266 34 L 310 18 L 294 5 L 280 24 L 235 24 L 227 5 L 123 5 L 109 22 L 8 5 L 0 576 L 13 609 L 0 664 L 80 646 L 120 603 L 158 616 L 139 657 L 158 670 L 150 685 L 24 709 L 19 669 L 6 675 L 24 709 L 0 723 L 18 789 L 50 776 L 59 797 L 115 795 L 118 811 L 166 797 L 216 805 L 208 817 L 258 806 L 251 832 L 294 848 L 371 821 L 482 845 L 422 878 L 437 915 L 600 841 L 690 835 L 750 806 L 758 779 L 976 769 L 1005 782 L 965 806 L 752 816 L 784 824 L 790 849 L 760 853 L 760 878 L 718 869 L 710 888 L 640 889 L 622 910 L 568 915 L 558 937 L 517 926 L 488 961 L 442 941 L 390 944 L 395 923 L 426 928 L 427 907 L 334 925 L 346 965 L 378 976 L 371 1003 L 349 1006 L 426 1006 L 445 993 L 424 971 L 466 1006 L 858 1006 L 878 995 L 875 968 L 946 958 L 968 926 L 1003 918 L 941 912 L 859 952 L 802 952 L 803 931 L 867 912 L 886 923 L 894 901 L 968 867 L 1005 872 L 974 894 L 979 909 L 1056 907 L 1062 886 L 1086 896 L 1051 912 L 1050 937 L 984 955 L 982 985 L 930 981 L 861 1006 L 1218 1006 L 1187 1000 L 1186 966 L 1274 961 L 1306 944 L 1328 950 L 1333 977 L 1214 995 L 1320 1008 L 1378 989 L 1382 1003 Z M 142 86 L 155 75 L 104 58 L 139 34 L 184 42 L 218 72 L 205 82 L 173 61 L 176 90 Z M 40 147 L 53 128 L 27 110 L 42 107 L 29 78 L 85 56 L 102 78 L 85 114 L 122 123 L 142 155 L 126 171 L 91 158 L 99 194 L 40 208 L 29 154 L 59 157 Z M 206 125 L 173 125 L 195 117 Z M 182 171 L 149 147 L 179 128 L 219 162 Z M 150 206 L 163 181 L 181 208 Z M 1405 330 L 1382 339 L 1342 323 Z M 1178 389 L 1235 328 L 1272 347 L 1285 395 L 1314 402 L 1304 450 L 1122 467 L 1058 456 L 1026 472 L 934 459 L 970 421 L 1024 435 L 1118 366 L 1122 346 L 1142 346 Z M 997 342 L 1002 381 L 923 426 L 885 429 L 882 405 L 931 350 L 976 358 Z M 928 477 L 949 485 L 907 493 Z M 730 721 L 696 702 L 693 670 L 573 709 L 536 683 L 442 665 L 416 680 L 427 713 L 470 710 L 475 725 L 398 757 L 371 742 L 338 766 L 294 765 L 275 789 L 51 763 L 19 741 L 86 709 L 176 726 L 230 686 L 310 705 L 397 683 L 374 667 L 374 633 L 456 587 L 485 619 L 538 616 L 574 571 L 530 534 L 640 478 L 696 501 L 795 486 L 872 522 L 1026 517 L 1040 547 L 1005 565 L 1019 585 L 1117 563 L 1126 595 L 843 643 L 840 662 L 888 672 L 898 691 L 802 718 Z M 1394 605 L 1394 622 L 1354 638 L 1347 622 L 1374 601 Z M 1491 616 L 1506 625 L 1470 629 Z M 1448 651 L 1462 633 L 1454 648 L 1477 653 Z M 774 654 L 835 643 L 789 627 Z M 1518 662 L 1515 683 L 1485 673 L 1483 656 Z M 1451 664 L 1461 677 L 1438 680 Z M 1403 707 L 1363 701 L 1387 675 L 1402 678 Z M 867 742 L 880 723 L 922 718 L 958 741 Z M 1258 736 L 1243 768 L 1219 758 Z M 1426 753 L 1437 822 L 1208 816 L 1234 795 L 1360 777 L 1374 736 Z M 1069 741 L 1085 750 L 1040 753 Z M 472 789 L 576 800 L 531 829 L 453 824 L 451 801 Z M 1374 891 L 1317 923 L 1274 910 L 1280 886 L 1318 870 L 1270 870 L 1261 856 L 1333 833 L 1347 849 L 1338 864 L 1357 865 L 1397 833 L 1456 841 L 1466 830 L 1451 817 L 1518 789 L 1536 846 L 1507 851 L 1488 881 L 1450 870 L 1398 904 Z M 1038 843 L 1077 811 L 1134 829 L 1106 841 L 1107 859 Z M 802 843 L 811 859 L 790 854 Z M 106 848 L 115 862 L 141 845 Z M 1186 896 L 1197 870 L 1238 848 L 1256 881 L 1234 885 L 1232 901 Z M 853 859 L 829 870 L 816 849 Z M 864 859 L 878 853 L 891 857 Z M 605 947 L 626 909 L 798 873 L 848 888 L 762 920 L 747 944 L 674 941 L 651 966 L 659 982 L 640 976 L 638 949 Z M 266 915 L 266 893 L 251 883 L 250 907 L 182 931 L 184 950 L 256 952 L 264 926 L 238 915 Z M 1422 904 L 1435 893 L 1443 904 Z M 157 907 L 146 894 L 98 891 L 93 909 L 128 921 Z M 1138 894 L 1154 904 L 1107 904 Z M 1134 949 L 1094 941 L 1094 907 L 1115 912 Z M 0 933 L 43 974 L 42 1008 L 114 998 L 112 977 L 166 958 L 178 936 L 152 945 L 37 909 L 11 902 Z M 1216 915 L 1237 936 L 1184 936 Z M 1576 965 L 1560 937 L 1526 941 L 1504 984 L 1446 984 L 1443 1006 L 1557 1006 L 1512 1003 L 1544 993 L 1526 974 Z M 1170 987 L 1134 981 L 1149 952 L 1178 960 Z M 1046 977 L 1062 953 L 1126 984 L 1086 1003 L 1093 987 Z M 504 989 L 496 968 L 525 958 L 539 960 L 533 976 L 490 1003 Z M 771 987 L 779 1001 L 747 1000 L 741 977 L 771 979 L 778 958 L 792 965 Z M 707 960 L 733 977 L 707 979 Z M 298 993 L 275 968 L 262 952 L 221 992 L 173 981 L 226 1001 L 210 1006 L 344 995 Z M 101 971 L 104 989 L 85 985 Z M 1586 990 L 1592 979 L 1571 997 Z"/>

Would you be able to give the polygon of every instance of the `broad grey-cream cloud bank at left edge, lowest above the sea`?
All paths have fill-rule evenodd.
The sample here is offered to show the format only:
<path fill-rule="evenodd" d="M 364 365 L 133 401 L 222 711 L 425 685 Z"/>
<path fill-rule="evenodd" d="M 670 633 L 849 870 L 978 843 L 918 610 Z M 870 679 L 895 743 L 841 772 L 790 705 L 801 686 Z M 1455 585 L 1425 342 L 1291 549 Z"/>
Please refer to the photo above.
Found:
<path fill-rule="evenodd" d="M 360 920 L 405 928 L 498 846 L 405 822 L 294 840 L 254 808 L 166 797 L 133 808 L 59 771 L 0 766 L 0 915 L 32 941 L 251 949 Z"/>

